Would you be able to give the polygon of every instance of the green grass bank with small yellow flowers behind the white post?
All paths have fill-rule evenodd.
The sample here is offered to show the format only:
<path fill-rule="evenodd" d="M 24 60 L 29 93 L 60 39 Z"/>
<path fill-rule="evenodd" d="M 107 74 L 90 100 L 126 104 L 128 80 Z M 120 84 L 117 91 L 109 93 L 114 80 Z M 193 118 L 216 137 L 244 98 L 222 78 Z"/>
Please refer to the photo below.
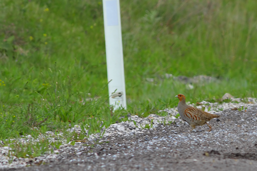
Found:
<path fill-rule="evenodd" d="M 112 111 L 102 1 L 0 1 L 0 139 L 100 132 L 127 113 L 174 107 L 178 93 L 194 103 L 256 97 L 257 1 L 120 3 L 128 107 Z M 186 89 L 166 73 L 219 81 Z"/>

